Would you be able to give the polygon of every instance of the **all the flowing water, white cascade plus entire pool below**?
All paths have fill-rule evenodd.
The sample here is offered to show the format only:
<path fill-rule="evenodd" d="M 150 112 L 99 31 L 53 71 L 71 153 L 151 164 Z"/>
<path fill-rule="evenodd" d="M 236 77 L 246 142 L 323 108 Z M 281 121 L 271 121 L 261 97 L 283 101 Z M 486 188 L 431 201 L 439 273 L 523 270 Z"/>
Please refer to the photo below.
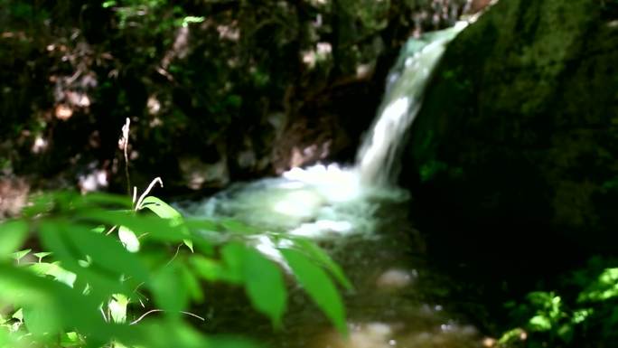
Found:
<path fill-rule="evenodd" d="M 411 40 L 389 74 L 378 118 L 357 165 L 295 168 L 278 178 L 239 183 L 204 202 L 184 205 L 201 217 L 233 218 L 264 230 L 316 240 L 342 265 L 355 287 L 344 294 L 350 337 L 342 338 L 307 299 L 290 292 L 285 328 L 270 324 L 229 295 L 215 296 L 204 330 L 242 333 L 273 347 L 481 347 L 482 335 L 440 302 L 448 279 L 431 271 L 423 240 L 408 220 L 408 193 L 392 184 L 400 146 L 445 45 L 463 24 Z M 267 238 L 258 248 L 276 257 Z M 228 294 L 228 295 L 226 295 Z M 232 293 L 233 294 L 233 293 Z"/>

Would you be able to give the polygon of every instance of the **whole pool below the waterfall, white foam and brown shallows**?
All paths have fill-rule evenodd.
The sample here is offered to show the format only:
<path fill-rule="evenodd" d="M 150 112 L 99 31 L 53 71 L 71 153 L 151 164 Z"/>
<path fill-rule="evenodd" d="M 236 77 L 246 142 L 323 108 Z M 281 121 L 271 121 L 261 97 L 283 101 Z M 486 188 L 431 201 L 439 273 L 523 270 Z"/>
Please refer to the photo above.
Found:
<path fill-rule="evenodd" d="M 183 202 L 189 215 L 234 218 L 265 230 L 315 240 L 350 278 L 344 292 L 350 334 L 337 333 L 290 281 L 285 326 L 274 331 L 239 289 L 215 287 L 202 329 L 243 334 L 271 347 L 381 348 L 483 347 L 484 337 L 464 315 L 449 277 L 428 264 L 424 240 L 409 220 L 409 194 L 363 185 L 353 169 L 315 166 L 279 178 L 241 183 L 202 202 Z M 265 239 L 267 240 L 267 239 Z M 268 242 L 258 248 L 276 259 Z"/>

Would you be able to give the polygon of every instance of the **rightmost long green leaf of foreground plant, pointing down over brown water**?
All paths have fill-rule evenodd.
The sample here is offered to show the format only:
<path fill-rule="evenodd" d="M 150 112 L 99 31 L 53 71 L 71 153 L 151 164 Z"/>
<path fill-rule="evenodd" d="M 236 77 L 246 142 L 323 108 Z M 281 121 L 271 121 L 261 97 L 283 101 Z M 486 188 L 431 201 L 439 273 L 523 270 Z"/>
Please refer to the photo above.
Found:
<path fill-rule="evenodd" d="M 323 310 L 341 333 L 347 333 L 342 298 L 326 272 L 315 266 L 311 259 L 299 251 L 281 249 L 281 254 L 292 268 L 298 283 L 314 299 L 317 306 Z"/>

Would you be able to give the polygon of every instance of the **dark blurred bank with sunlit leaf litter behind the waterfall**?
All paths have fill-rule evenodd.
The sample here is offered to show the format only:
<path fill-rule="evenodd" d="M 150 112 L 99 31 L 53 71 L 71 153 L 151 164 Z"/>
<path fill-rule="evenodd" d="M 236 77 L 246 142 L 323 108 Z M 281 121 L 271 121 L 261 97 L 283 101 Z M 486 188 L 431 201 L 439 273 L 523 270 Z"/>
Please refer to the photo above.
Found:
<path fill-rule="evenodd" d="M 368 79 L 358 71 L 467 3 L 0 0 L 0 165 L 115 173 L 117 127 L 131 118 L 144 180 L 164 168 L 182 181 L 191 155 L 232 175 L 272 171 L 274 139 L 304 105 L 338 98 L 333 86 Z"/>

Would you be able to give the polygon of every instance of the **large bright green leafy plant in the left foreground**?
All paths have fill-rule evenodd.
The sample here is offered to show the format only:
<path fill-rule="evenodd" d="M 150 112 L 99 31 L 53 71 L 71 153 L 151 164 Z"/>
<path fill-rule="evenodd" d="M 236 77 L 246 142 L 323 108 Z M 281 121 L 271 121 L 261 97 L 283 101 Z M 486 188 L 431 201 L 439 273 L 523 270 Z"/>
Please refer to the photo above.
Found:
<path fill-rule="evenodd" d="M 199 317 L 189 308 L 203 300 L 202 283 L 212 281 L 244 287 L 254 308 L 280 327 L 284 273 L 251 243 L 258 230 L 184 219 L 147 191 L 133 202 L 103 193 L 43 194 L 23 218 L 0 225 L 0 347 L 252 346 L 215 340 L 188 323 Z M 342 270 L 309 240 L 267 238 L 345 332 L 332 280 L 350 288 Z M 152 305 L 139 306 L 145 299 Z"/>

